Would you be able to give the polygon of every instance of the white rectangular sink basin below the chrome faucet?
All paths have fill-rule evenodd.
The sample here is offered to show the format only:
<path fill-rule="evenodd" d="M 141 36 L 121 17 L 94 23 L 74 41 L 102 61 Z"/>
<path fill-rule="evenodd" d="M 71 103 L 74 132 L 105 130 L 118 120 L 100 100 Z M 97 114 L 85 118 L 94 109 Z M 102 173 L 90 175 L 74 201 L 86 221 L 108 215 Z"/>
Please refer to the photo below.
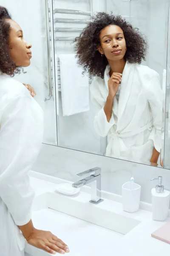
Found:
<path fill-rule="evenodd" d="M 140 221 L 122 212 L 119 203 L 105 199 L 95 205 L 88 202 L 88 197 L 84 192 L 75 196 L 55 192 L 38 195 L 33 204 L 34 227 L 62 239 L 70 248 L 69 256 L 112 255 L 113 244 L 122 244 L 124 235 Z M 25 251 L 26 256 L 51 255 L 29 244 Z"/>

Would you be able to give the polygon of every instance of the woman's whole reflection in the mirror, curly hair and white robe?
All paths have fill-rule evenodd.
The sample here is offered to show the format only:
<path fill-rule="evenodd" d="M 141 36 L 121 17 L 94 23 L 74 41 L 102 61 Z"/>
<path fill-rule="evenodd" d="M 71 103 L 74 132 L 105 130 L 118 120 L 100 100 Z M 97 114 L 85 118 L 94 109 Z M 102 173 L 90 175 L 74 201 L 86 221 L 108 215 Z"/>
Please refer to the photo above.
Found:
<path fill-rule="evenodd" d="M 162 90 L 147 66 L 147 44 L 121 16 L 98 13 L 76 38 L 78 64 L 97 76 L 91 99 L 96 132 L 108 136 L 106 156 L 157 164 L 161 147 Z"/>

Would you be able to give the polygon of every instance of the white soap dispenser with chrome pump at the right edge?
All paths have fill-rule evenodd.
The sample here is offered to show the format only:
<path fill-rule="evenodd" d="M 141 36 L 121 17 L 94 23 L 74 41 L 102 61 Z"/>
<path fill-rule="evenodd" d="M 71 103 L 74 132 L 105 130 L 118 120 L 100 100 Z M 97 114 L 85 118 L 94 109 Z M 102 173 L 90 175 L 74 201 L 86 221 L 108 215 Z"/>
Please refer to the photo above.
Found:
<path fill-rule="evenodd" d="M 154 221 L 164 221 L 168 216 L 170 191 L 162 185 L 162 176 L 152 179 L 158 180 L 156 188 L 152 189 L 152 218 Z"/>

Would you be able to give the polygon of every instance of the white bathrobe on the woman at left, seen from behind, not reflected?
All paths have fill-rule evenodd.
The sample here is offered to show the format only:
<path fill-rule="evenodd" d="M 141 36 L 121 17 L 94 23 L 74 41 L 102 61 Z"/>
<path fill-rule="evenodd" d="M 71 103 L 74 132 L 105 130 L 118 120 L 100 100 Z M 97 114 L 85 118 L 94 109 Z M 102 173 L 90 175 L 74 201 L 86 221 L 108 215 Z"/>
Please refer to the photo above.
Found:
<path fill-rule="evenodd" d="M 17 225 L 31 219 L 27 176 L 42 143 L 43 112 L 23 84 L 0 74 L 0 255 L 23 256 Z"/>

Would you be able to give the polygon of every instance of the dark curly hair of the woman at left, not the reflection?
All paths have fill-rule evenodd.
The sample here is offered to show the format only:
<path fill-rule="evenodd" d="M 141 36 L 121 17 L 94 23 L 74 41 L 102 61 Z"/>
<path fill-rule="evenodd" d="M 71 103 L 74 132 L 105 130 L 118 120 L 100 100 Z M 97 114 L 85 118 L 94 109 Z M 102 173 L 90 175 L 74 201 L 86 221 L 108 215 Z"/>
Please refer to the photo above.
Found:
<path fill-rule="evenodd" d="M 14 76 L 14 74 L 20 73 L 23 68 L 17 67 L 10 55 L 10 24 L 6 21 L 7 19 L 11 19 L 11 15 L 6 8 L 0 6 L 0 71 Z"/>

